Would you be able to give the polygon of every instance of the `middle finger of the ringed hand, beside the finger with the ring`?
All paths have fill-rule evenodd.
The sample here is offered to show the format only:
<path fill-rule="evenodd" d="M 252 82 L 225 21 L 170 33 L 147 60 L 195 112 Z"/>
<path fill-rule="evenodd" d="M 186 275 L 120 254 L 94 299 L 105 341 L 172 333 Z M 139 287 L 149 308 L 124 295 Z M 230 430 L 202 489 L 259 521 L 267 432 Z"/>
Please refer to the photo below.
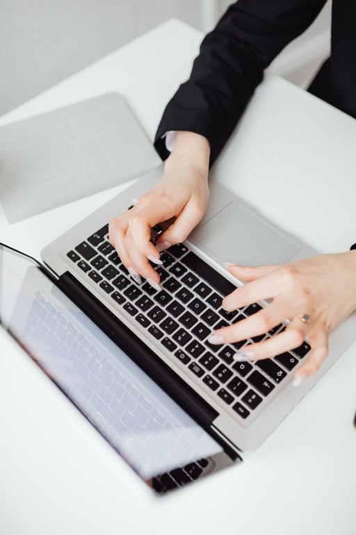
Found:
<path fill-rule="evenodd" d="M 217 329 L 214 331 L 213 336 L 218 336 L 218 339 L 213 338 L 211 343 L 234 343 L 260 334 L 266 334 L 270 329 L 285 320 L 290 307 L 289 300 L 273 302 L 245 320 L 234 323 L 229 327 L 223 327 L 223 329 Z"/>

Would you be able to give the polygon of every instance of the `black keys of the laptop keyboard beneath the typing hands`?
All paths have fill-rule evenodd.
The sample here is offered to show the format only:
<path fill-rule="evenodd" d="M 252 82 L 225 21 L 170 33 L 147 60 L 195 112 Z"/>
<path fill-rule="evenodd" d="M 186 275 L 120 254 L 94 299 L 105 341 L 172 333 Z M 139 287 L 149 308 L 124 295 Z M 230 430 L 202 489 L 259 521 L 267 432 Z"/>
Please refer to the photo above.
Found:
<path fill-rule="evenodd" d="M 152 229 L 152 241 L 161 234 L 161 226 Z M 108 225 L 67 252 L 83 277 L 97 284 L 108 298 L 147 329 L 174 355 L 186 373 L 202 382 L 216 401 L 231 414 L 247 419 L 259 412 L 268 396 L 285 385 L 286 378 L 310 350 L 307 342 L 291 352 L 257 362 L 234 362 L 236 350 L 274 336 L 285 328 L 277 325 L 263 336 L 255 336 L 224 346 L 213 346 L 207 339 L 220 327 L 227 327 L 261 309 L 257 303 L 227 312 L 222 300 L 236 286 L 188 249 L 172 245 L 161 254 L 163 265 L 153 267 L 161 277 L 162 290 L 133 281 L 115 249 L 108 242 Z M 270 396 L 273 397 L 273 396 Z"/>

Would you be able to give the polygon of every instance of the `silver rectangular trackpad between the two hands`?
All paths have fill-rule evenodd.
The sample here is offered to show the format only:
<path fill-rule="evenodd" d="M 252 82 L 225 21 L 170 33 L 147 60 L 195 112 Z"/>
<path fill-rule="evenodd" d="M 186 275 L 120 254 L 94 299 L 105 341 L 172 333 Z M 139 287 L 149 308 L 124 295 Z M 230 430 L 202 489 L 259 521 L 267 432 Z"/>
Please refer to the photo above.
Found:
<path fill-rule="evenodd" d="M 223 262 L 239 265 L 282 264 L 300 251 L 296 242 L 235 201 L 192 235 Z"/>

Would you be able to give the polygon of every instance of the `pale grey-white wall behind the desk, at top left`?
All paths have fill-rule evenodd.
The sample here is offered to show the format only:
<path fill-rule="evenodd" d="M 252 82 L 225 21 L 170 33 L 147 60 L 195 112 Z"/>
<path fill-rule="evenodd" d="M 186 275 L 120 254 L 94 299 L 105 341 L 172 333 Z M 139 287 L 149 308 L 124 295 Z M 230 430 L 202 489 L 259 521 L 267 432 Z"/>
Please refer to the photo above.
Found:
<path fill-rule="evenodd" d="M 202 0 L 1 0 L 0 115 L 170 17 Z"/>

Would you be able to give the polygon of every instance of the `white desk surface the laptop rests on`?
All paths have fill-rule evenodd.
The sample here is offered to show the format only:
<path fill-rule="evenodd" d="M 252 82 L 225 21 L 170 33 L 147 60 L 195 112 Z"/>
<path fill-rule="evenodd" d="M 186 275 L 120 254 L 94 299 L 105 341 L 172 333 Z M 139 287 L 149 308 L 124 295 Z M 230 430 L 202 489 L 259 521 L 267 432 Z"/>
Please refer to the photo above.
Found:
<path fill-rule="evenodd" d="M 200 39 L 177 21 L 163 24 L 0 122 L 119 91 L 153 138 Z M 348 249 L 356 242 L 356 122 L 279 79 L 248 114 L 213 174 L 321 251 Z M 0 240 L 39 258 L 118 191 L 12 226 L 0 211 Z M 0 532 L 354 535 L 355 357 L 354 344 L 243 465 L 155 499 L 137 492 L 131 470 L 0 333 Z"/>

